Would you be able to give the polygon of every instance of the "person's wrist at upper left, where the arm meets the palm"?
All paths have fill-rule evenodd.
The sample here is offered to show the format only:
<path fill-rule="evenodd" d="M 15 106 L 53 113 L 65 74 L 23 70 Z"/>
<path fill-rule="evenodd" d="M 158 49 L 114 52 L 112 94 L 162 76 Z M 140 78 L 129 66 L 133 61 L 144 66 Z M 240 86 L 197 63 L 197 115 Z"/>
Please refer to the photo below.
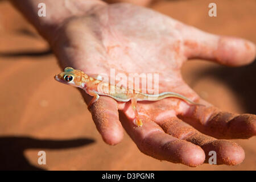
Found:
<path fill-rule="evenodd" d="M 32 23 L 48 42 L 55 39 L 57 31 L 68 19 L 86 15 L 97 6 L 106 5 L 100 0 L 11 0 L 14 6 Z M 46 5 L 46 16 L 39 16 L 39 3 Z"/>

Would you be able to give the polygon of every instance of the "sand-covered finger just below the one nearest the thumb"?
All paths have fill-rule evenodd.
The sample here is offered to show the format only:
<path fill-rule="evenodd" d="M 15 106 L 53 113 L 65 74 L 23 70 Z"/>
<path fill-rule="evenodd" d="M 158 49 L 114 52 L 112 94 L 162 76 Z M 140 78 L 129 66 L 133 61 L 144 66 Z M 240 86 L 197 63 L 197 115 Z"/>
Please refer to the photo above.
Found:
<path fill-rule="evenodd" d="M 210 151 L 216 152 L 217 164 L 236 165 L 241 163 L 245 158 L 245 152 L 238 144 L 228 140 L 217 140 L 201 134 L 179 118 L 172 117 L 158 121 L 158 125 L 166 133 L 203 148 L 206 158 L 205 163 L 208 163 L 210 156 L 212 156 L 209 155 Z"/>

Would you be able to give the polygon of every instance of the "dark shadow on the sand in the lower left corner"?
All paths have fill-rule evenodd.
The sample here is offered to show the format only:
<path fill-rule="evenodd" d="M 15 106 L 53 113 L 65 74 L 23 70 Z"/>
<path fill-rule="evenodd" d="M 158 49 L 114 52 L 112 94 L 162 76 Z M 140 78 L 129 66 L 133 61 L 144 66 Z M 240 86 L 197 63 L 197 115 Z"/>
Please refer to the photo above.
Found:
<path fill-rule="evenodd" d="M 30 148 L 63 149 L 86 146 L 93 139 L 81 138 L 71 140 L 34 139 L 30 137 L 0 137 L 0 170 L 46 170 L 35 167 L 26 159 L 24 151 Z M 38 156 L 39 158 L 39 156 Z M 46 159 L 47 161 L 47 159 Z"/>

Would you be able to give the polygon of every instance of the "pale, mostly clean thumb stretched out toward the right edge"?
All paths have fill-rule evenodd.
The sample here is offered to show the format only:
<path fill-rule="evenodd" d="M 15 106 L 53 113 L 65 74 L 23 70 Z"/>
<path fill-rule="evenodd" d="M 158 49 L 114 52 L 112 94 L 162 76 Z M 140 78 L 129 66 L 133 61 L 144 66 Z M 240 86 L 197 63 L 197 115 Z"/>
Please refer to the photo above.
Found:
<path fill-rule="evenodd" d="M 228 66 L 249 64 L 255 59 L 255 44 L 247 40 L 208 34 L 194 27 L 182 32 L 188 59 L 208 59 Z"/>

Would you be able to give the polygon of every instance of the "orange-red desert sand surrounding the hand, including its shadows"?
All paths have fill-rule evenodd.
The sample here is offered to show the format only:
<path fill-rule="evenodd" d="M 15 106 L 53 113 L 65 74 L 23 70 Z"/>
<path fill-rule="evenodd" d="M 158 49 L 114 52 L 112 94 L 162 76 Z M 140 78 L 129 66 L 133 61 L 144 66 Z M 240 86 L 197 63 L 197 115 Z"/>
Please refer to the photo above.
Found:
<path fill-rule="evenodd" d="M 160 1 L 152 9 L 214 34 L 256 42 L 255 1 Z M 256 138 L 236 140 L 246 154 L 238 166 L 196 168 L 161 162 L 142 154 L 125 135 L 117 146 L 105 144 L 79 91 L 53 79 L 60 72 L 55 56 L 30 24 L 0 1 L 0 169 L 60 170 L 255 170 Z M 37 53 L 36 53 L 37 52 Z M 255 63 L 225 68 L 191 61 L 184 79 L 205 100 L 226 111 L 256 114 Z M 252 85 L 251 85 L 252 84 Z M 47 154 L 39 165 L 38 151 Z"/>

